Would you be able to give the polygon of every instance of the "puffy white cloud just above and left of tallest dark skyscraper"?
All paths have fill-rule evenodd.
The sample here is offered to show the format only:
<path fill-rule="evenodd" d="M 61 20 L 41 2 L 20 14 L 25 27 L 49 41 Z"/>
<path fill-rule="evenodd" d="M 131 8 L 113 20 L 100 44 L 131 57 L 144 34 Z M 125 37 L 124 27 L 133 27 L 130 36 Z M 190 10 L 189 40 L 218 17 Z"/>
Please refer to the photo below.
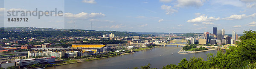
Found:
<path fill-rule="evenodd" d="M 191 19 L 191 20 L 188 20 L 187 22 L 190 22 L 190 23 L 201 23 L 201 22 L 210 22 L 210 21 L 217 21 L 219 20 L 220 18 L 215 18 L 215 17 L 207 17 L 207 16 L 199 16 L 195 19 Z"/>

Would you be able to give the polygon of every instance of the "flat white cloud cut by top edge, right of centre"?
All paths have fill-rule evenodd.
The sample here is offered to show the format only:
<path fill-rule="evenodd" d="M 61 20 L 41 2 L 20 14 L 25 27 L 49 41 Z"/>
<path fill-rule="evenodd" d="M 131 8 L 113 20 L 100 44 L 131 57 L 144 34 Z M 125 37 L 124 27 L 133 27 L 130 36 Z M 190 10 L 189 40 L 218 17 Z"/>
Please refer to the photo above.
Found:
<path fill-rule="evenodd" d="M 177 0 L 178 4 L 175 7 L 201 7 L 205 0 Z"/>

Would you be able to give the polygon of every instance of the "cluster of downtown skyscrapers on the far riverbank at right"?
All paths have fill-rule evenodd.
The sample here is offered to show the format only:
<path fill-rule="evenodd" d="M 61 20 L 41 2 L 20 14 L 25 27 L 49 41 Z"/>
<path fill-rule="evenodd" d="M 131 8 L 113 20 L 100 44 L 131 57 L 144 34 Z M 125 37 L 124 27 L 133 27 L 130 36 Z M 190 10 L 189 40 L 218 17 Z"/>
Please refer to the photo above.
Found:
<path fill-rule="evenodd" d="M 236 44 L 239 36 L 235 31 L 232 31 L 232 35 L 225 35 L 225 29 L 217 30 L 217 27 L 213 27 L 212 33 L 204 32 L 204 34 L 197 34 L 197 37 L 189 37 L 186 40 L 190 40 L 191 44 L 199 45 L 227 45 Z"/>

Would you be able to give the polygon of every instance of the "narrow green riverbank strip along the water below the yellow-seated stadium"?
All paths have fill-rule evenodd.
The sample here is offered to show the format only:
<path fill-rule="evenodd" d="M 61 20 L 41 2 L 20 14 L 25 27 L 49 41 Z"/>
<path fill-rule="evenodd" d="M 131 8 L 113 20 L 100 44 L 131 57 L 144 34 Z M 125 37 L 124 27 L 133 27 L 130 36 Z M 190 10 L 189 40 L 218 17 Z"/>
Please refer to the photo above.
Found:
<path fill-rule="evenodd" d="M 148 49 L 153 49 L 153 48 L 147 48 L 147 49 L 142 49 L 142 50 L 148 50 Z M 139 51 L 142 51 L 142 50 L 139 50 Z M 136 53 L 136 52 L 139 52 L 139 51 L 134 51 L 132 53 Z M 126 55 L 126 54 L 131 54 L 131 53 L 122 53 L 118 56 L 122 56 L 122 55 Z M 73 59 L 73 60 L 62 61 L 62 63 L 57 63 L 57 64 L 54 64 L 54 65 L 61 66 L 61 65 L 66 65 L 66 64 L 75 64 L 75 63 L 81 63 L 81 62 L 85 62 L 85 61 L 93 61 L 93 60 L 98 60 L 98 59 L 102 59 L 102 58 L 110 58 L 110 57 L 114 57 L 114 56 L 107 56 L 107 57 L 101 57 L 101 58 L 90 58 L 90 59 L 88 59 L 88 58 Z"/>

